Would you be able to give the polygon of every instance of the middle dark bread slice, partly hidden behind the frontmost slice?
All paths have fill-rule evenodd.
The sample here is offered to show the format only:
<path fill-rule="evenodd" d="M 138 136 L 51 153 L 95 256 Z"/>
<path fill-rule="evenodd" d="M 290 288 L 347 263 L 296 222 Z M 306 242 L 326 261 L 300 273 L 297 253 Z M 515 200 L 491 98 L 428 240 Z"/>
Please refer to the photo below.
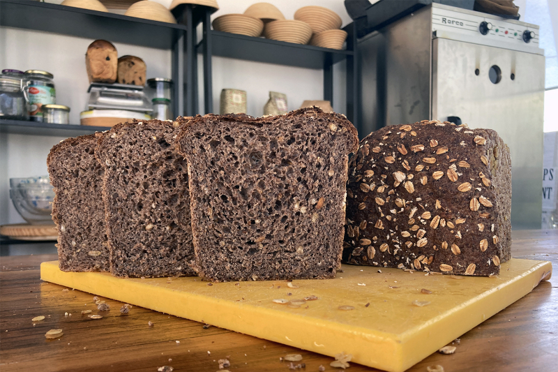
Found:
<path fill-rule="evenodd" d="M 188 165 L 175 121 L 116 124 L 99 136 L 103 200 L 115 276 L 193 275 Z"/>

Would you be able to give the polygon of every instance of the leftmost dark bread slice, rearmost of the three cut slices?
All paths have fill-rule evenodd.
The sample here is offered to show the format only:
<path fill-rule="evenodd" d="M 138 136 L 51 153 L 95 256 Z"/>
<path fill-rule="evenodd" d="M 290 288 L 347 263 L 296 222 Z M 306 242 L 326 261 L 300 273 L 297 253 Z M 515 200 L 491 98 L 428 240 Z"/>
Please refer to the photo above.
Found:
<path fill-rule="evenodd" d="M 95 135 L 68 138 L 47 157 L 54 187 L 52 219 L 58 230 L 62 271 L 109 271 L 103 204 L 103 168 L 95 158 Z"/>

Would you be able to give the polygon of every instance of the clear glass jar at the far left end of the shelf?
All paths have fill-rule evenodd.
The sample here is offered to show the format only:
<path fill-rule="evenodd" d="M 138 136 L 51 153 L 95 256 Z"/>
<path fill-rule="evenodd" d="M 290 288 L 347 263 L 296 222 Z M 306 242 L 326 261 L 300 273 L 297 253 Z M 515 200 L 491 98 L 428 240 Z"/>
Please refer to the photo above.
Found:
<path fill-rule="evenodd" d="M 0 75 L 0 118 L 28 120 L 28 111 L 21 80 L 9 75 Z"/>

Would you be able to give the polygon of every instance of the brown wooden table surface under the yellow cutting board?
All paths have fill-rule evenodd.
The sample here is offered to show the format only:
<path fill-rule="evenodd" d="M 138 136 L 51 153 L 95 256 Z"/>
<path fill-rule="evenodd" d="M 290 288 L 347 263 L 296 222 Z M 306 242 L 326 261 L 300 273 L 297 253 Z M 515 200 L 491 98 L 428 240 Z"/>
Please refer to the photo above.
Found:
<path fill-rule="evenodd" d="M 558 371 L 558 230 L 513 232 L 515 258 L 552 261 L 555 276 L 529 295 L 460 337 L 453 355 L 438 352 L 409 371 L 442 365 L 454 371 Z M 80 315 L 95 309 L 93 295 L 40 280 L 39 265 L 55 255 L 0 258 L 0 370 L 146 371 L 172 366 L 179 371 L 289 371 L 279 358 L 298 353 L 306 368 L 336 371 L 333 358 L 217 327 L 105 299 L 110 311 L 100 320 Z M 193 305 L 194 306 L 194 305 Z M 65 315 L 68 313 L 71 315 Z M 96 312 L 94 312 L 96 313 Z M 32 318 L 45 315 L 33 324 Z M 154 323 L 149 327 L 148 322 Z M 47 340 L 50 329 L 64 335 Z M 347 350 L 349 351 L 349 350 Z M 375 371 L 351 364 L 349 372 Z"/>

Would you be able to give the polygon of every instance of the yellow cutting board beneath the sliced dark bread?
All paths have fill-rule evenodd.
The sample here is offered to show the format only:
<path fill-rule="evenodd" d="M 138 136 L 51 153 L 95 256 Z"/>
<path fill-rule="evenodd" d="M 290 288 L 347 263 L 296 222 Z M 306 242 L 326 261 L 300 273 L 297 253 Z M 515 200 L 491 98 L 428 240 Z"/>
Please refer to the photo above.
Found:
<path fill-rule="evenodd" d="M 548 280 L 547 261 L 513 259 L 497 278 L 427 275 L 343 265 L 335 279 L 229 282 L 196 277 L 115 278 L 60 271 L 43 262 L 45 281 L 155 311 L 232 329 L 391 372 L 405 371 Z M 432 293 L 424 294 L 421 290 Z M 289 293 L 291 295 L 289 295 Z M 317 296 L 300 307 L 273 299 Z M 413 302 L 430 302 L 416 306 Z M 368 304 L 368 306 L 367 306 Z M 352 306 L 352 310 L 340 310 Z"/>

